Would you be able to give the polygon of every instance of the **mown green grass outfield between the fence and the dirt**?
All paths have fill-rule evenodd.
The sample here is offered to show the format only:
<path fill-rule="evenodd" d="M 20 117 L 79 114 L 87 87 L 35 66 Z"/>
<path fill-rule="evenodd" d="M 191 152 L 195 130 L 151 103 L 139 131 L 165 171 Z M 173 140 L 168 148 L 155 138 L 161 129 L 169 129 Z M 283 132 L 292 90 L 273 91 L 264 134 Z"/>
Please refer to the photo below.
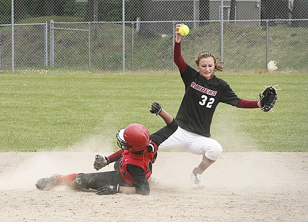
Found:
<path fill-rule="evenodd" d="M 211 135 L 224 151 L 308 151 L 307 74 L 218 77 L 247 100 L 258 100 L 263 85 L 281 88 L 274 112 L 218 105 Z M 151 103 L 176 116 L 184 95 L 178 74 L 2 73 L 0 86 L 2 152 L 78 150 L 91 138 L 117 150 L 120 128 L 141 123 L 155 132 L 164 122 Z"/>

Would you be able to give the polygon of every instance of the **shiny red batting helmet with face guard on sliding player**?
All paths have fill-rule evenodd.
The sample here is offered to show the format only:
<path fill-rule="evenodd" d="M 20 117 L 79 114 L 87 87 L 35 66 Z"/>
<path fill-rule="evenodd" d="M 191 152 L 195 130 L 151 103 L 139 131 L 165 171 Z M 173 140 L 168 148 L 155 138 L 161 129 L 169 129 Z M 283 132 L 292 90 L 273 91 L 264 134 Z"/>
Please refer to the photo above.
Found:
<path fill-rule="evenodd" d="M 149 130 L 138 123 L 130 124 L 118 131 L 117 143 L 121 149 L 127 149 L 128 151 L 143 150 L 150 144 Z"/>

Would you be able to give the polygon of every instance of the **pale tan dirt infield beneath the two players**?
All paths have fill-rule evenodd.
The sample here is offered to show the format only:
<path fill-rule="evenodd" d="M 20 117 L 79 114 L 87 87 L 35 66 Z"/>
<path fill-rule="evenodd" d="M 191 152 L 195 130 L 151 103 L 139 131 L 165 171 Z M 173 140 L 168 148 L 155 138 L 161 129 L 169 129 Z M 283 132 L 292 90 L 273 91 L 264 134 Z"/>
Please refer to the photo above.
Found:
<path fill-rule="evenodd" d="M 201 161 L 187 152 L 159 152 L 150 196 L 57 187 L 35 188 L 40 177 L 94 172 L 93 152 L 0 153 L 3 221 L 308 221 L 308 153 L 227 152 L 190 188 Z M 108 153 L 105 153 L 108 154 Z M 103 168 L 112 170 L 113 166 Z"/>

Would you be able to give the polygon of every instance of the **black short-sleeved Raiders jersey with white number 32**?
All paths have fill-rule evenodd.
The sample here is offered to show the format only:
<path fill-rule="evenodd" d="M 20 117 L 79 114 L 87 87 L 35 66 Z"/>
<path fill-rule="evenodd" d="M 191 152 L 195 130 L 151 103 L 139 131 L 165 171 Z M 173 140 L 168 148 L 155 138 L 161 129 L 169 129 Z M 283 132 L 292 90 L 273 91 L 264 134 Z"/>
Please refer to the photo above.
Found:
<path fill-rule="evenodd" d="M 235 106 L 240 98 L 226 81 L 216 76 L 207 80 L 188 64 L 181 77 L 185 94 L 176 120 L 181 128 L 210 137 L 210 124 L 218 103 Z"/>

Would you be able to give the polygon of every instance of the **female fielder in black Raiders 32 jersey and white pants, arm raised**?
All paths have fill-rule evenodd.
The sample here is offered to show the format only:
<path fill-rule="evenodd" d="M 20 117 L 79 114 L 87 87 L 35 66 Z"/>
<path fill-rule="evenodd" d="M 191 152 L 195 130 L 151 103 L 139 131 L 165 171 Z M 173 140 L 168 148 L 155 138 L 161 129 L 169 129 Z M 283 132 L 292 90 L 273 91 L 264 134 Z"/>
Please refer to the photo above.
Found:
<path fill-rule="evenodd" d="M 174 61 L 185 84 L 185 94 L 176 120 L 177 131 L 165 140 L 159 149 L 183 147 L 191 153 L 202 155 L 198 167 L 192 170 L 191 181 L 194 188 L 203 187 L 202 173 L 222 154 L 222 146 L 210 137 L 210 124 L 218 103 L 223 102 L 239 108 L 258 108 L 259 101 L 240 99 L 228 83 L 214 75 L 225 69 L 223 62 L 216 61 L 211 52 L 201 52 L 196 65 L 199 72 L 191 68 L 181 55 L 181 35 L 176 26 Z"/>

